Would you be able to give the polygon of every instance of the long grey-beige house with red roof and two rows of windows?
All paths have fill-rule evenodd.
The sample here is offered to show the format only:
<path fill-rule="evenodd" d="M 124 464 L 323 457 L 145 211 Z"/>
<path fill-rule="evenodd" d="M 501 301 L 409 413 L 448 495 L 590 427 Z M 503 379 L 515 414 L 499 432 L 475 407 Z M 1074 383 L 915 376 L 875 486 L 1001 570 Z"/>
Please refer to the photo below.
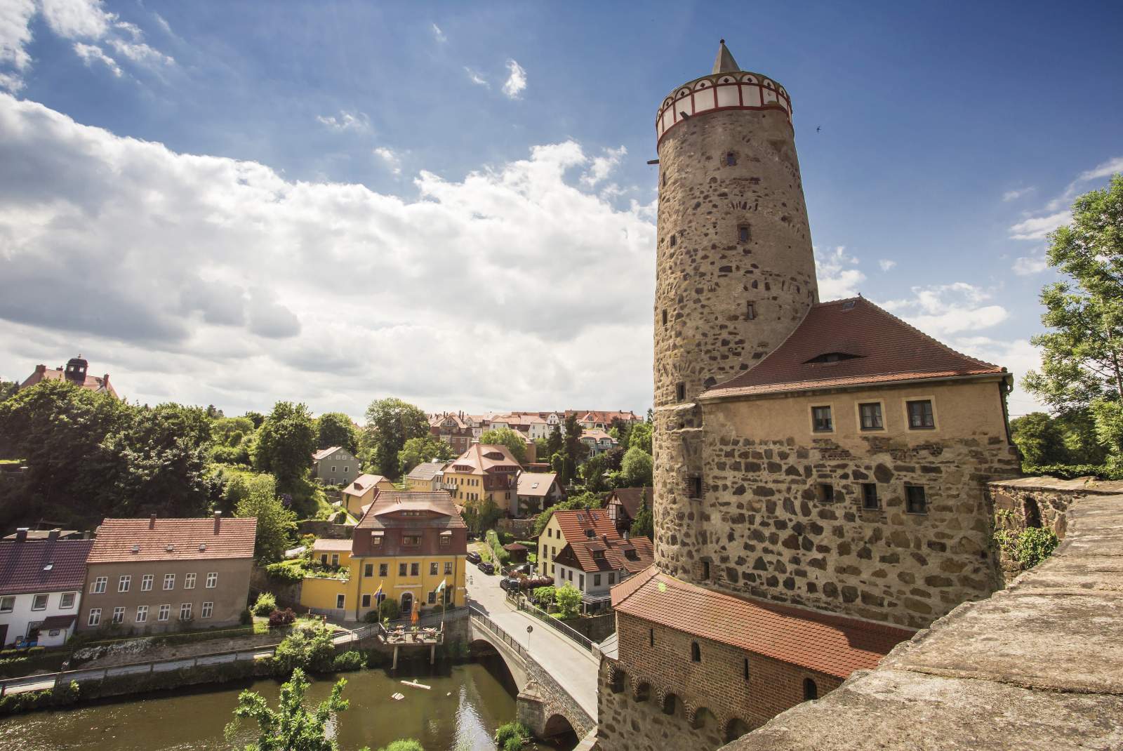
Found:
<path fill-rule="evenodd" d="M 107 519 L 86 560 L 79 631 L 236 625 L 249 599 L 257 520 Z"/>

